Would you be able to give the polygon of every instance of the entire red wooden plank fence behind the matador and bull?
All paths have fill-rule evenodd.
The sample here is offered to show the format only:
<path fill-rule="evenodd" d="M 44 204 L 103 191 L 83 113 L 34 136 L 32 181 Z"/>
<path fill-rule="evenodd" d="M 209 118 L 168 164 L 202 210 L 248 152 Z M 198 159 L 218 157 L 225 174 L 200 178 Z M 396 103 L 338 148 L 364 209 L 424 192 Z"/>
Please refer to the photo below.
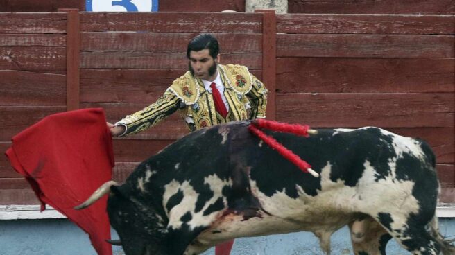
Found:
<path fill-rule="evenodd" d="M 108 121 L 187 70 L 187 42 L 214 33 L 221 62 L 271 90 L 268 116 L 314 127 L 376 125 L 429 141 L 443 202 L 455 202 L 454 17 L 257 13 L 0 13 L 0 151 L 44 116 L 103 107 Z M 187 133 L 175 114 L 114 139 L 115 179 Z M 0 157 L 0 204 L 35 204 Z"/>

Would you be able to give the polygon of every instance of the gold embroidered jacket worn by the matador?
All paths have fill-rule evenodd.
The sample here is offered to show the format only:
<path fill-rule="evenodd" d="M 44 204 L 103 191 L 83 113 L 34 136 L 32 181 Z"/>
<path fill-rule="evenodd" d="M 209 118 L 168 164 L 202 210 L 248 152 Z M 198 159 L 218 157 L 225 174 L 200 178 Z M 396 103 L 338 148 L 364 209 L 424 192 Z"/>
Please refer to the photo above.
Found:
<path fill-rule="evenodd" d="M 187 71 L 174 80 L 171 87 L 166 89 L 164 95 L 155 103 L 115 123 L 126 127 L 126 131 L 120 136 L 146 130 L 177 109 L 180 109 L 190 132 L 218 123 L 265 118 L 268 91 L 247 67 L 218 64 L 218 72 L 225 86 L 224 96 L 229 104 L 226 118 L 216 112 L 212 94 L 205 90 L 202 80 Z"/>

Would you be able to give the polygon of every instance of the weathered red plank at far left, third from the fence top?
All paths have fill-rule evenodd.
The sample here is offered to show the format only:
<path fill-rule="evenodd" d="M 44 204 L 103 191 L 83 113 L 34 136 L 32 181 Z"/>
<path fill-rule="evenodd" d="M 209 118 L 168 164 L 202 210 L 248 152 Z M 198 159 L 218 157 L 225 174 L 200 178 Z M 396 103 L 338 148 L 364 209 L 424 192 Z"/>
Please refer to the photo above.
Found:
<path fill-rule="evenodd" d="M 0 46 L 0 70 L 66 70 L 66 49 Z"/>

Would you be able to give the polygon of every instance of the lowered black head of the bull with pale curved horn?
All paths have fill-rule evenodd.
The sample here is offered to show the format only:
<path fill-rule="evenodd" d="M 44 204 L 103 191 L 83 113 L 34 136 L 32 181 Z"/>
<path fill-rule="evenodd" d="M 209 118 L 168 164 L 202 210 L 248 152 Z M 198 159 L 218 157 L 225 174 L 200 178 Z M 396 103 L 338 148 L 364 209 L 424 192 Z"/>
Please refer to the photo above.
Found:
<path fill-rule="evenodd" d="M 151 204 L 138 200 L 128 186 L 117 182 L 103 184 L 89 199 L 76 206 L 84 209 L 106 193 L 110 224 L 119 234 L 121 246 L 126 255 L 167 254 L 164 236 L 166 223 L 155 213 Z M 109 241 L 109 243 L 117 243 Z"/>

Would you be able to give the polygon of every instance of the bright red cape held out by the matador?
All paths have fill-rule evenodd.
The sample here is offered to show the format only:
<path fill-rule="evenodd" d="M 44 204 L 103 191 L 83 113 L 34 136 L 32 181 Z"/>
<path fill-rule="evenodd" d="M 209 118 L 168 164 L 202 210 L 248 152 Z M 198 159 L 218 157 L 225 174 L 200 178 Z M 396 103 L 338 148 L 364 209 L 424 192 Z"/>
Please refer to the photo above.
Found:
<path fill-rule="evenodd" d="M 102 109 L 53 114 L 12 138 L 6 156 L 40 199 L 86 231 L 98 254 L 112 254 L 107 196 L 89 208 L 74 206 L 112 178 L 112 137 Z"/>

